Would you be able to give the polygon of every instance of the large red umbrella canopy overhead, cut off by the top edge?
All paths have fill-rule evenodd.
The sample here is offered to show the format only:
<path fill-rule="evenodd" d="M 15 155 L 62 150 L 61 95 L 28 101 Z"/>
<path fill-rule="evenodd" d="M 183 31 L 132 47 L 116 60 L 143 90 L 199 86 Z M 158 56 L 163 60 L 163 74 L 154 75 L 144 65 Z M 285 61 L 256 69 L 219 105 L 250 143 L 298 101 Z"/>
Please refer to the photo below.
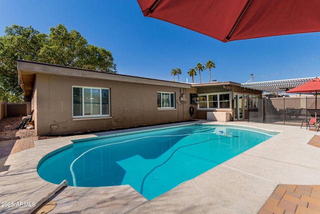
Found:
<path fill-rule="evenodd" d="M 319 0 L 137 0 L 143 16 L 222 42 L 320 31 Z"/>

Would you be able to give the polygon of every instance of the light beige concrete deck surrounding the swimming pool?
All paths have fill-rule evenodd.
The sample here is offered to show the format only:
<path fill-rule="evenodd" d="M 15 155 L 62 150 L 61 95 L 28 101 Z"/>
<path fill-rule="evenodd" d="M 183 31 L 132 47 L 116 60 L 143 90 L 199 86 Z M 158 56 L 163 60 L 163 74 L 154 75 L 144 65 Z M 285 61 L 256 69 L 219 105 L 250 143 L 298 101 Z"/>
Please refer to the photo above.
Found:
<path fill-rule="evenodd" d="M 49 213 L 262 213 L 278 184 L 320 184 L 320 148 L 307 144 L 320 133 L 299 126 L 244 121 L 208 123 L 280 133 L 150 201 L 129 185 L 67 186 L 51 197 L 56 206 Z M 47 153 L 71 145 L 70 140 L 181 124 L 34 141 L 33 148 L 0 159 L 0 212 L 27 212 L 58 186 L 41 179 L 36 167 Z M 281 210 L 278 213 L 284 213 Z"/>

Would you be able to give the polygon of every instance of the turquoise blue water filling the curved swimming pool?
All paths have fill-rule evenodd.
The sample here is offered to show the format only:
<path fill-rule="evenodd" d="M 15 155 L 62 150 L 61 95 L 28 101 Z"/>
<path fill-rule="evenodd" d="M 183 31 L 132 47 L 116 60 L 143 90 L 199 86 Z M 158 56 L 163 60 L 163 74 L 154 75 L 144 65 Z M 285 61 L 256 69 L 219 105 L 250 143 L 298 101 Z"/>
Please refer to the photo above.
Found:
<path fill-rule="evenodd" d="M 43 179 L 73 186 L 129 184 L 152 199 L 274 136 L 236 126 L 187 125 L 74 140 L 38 164 Z"/>

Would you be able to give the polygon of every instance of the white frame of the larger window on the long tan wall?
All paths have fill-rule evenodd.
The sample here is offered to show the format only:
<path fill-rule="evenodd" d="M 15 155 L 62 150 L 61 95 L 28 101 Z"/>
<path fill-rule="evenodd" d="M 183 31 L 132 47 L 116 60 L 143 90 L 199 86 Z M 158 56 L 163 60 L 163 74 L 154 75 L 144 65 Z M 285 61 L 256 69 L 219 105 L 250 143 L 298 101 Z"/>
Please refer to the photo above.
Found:
<path fill-rule="evenodd" d="M 82 115 L 80 116 L 73 116 L 73 88 L 81 88 L 82 90 Z M 84 115 L 84 89 L 98 89 L 99 90 L 99 95 L 100 95 L 100 114 L 95 114 L 95 115 Z M 108 90 L 108 107 L 107 107 L 107 112 L 108 114 L 102 114 L 102 90 Z M 105 118 L 105 117 L 110 117 L 110 88 L 100 88 L 100 87 L 91 87 L 91 86 L 72 86 L 72 118 Z"/>

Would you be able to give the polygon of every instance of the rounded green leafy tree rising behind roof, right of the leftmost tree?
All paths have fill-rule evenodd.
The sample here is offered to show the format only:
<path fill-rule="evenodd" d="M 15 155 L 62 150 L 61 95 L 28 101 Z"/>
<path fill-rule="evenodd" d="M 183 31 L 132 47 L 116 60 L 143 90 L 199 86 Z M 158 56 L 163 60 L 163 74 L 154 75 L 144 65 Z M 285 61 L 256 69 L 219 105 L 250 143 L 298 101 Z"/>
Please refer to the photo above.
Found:
<path fill-rule="evenodd" d="M 39 55 L 51 64 L 116 73 L 109 51 L 87 44 L 79 32 L 68 32 L 64 25 L 50 28 L 48 42 Z"/>

